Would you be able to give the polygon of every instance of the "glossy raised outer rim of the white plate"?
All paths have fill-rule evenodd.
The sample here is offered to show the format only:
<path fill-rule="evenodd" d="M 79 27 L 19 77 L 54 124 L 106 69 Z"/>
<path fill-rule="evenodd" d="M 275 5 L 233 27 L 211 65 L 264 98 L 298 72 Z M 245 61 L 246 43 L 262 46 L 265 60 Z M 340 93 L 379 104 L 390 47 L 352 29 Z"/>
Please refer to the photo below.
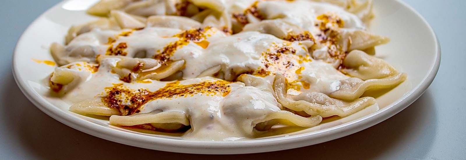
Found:
<path fill-rule="evenodd" d="M 437 39 L 437 36 L 434 33 L 432 27 L 425 20 L 425 18 L 422 17 L 422 15 L 420 15 L 416 10 L 414 10 L 411 6 L 407 5 L 405 2 L 401 0 L 394 1 L 400 3 L 402 6 L 407 7 L 409 10 L 411 10 L 411 12 L 415 13 L 418 16 L 418 18 L 420 18 L 423 21 L 423 23 L 429 28 L 432 34 L 431 36 L 434 38 L 437 44 L 435 46 L 435 48 L 437 49 L 437 54 L 435 55 L 435 62 L 430 68 L 429 73 L 423 78 L 423 80 L 418 86 L 414 87 L 414 89 L 412 89 L 409 93 L 406 93 L 402 98 L 392 103 L 392 105 L 384 107 L 383 109 L 375 113 L 371 113 L 370 115 L 365 116 L 362 119 L 354 120 L 352 122 L 344 123 L 336 127 L 331 127 L 311 133 L 291 135 L 288 137 L 245 141 L 177 140 L 161 137 L 152 137 L 147 135 L 136 135 L 133 133 L 103 127 L 75 116 L 66 116 L 68 115 L 67 113 L 41 98 L 41 96 L 38 93 L 34 92 L 32 87 L 27 87 L 26 80 L 23 80 L 21 78 L 21 74 L 18 73 L 17 70 L 17 63 L 15 63 L 17 61 L 16 53 L 18 51 L 18 44 L 24 38 L 24 35 L 28 33 L 30 27 L 34 26 L 34 24 L 37 23 L 37 20 L 39 18 L 34 20 L 33 23 L 31 23 L 31 25 L 25 30 L 25 32 L 21 35 L 20 39 L 18 40 L 14 50 L 12 70 L 14 79 L 18 84 L 19 88 L 21 89 L 22 93 L 24 93 L 27 99 L 29 99 L 42 112 L 48 114 L 50 117 L 62 122 L 63 124 L 69 127 L 73 127 L 84 133 L 88 133 L 106 140 L 130 146 L 156 149 L 161 151 L 203 154 L 260 153 L 304 147 L 308 145 L 322 143 L 328 140 L 334 140 L 376 125 L 377 123 L 380 123 L 390 118 L 391 116 L 395 115 L 396 113 L 402 111 L 404 108 L 411 105 L 411 103 L 417 100 L 431 85 L 440 66 L 441 51 L 439 40 Z M 58 5 L 62 5 L 62 3 L 64 2 L 66 2 L 66 0 L 58 3 L 57 5 L 55 5 L 55 7 Z M 44 12 L 44 14 L 49 12 L 52 8 Z M 43 14 L 39 17 L 42 16 Z M 311 139 L 314 140 L 310 141 Z M 273 145 L 277 146 L 273 147 Z"/>

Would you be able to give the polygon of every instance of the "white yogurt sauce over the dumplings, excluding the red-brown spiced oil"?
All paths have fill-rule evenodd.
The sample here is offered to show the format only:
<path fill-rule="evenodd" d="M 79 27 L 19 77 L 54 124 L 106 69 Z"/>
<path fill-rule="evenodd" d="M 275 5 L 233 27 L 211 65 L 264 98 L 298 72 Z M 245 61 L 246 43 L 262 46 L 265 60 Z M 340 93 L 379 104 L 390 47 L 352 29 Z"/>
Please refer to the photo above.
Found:
<path fill-rule="evenodd" d="M 239 1 L 230 4 L 235 10 L 250 6 L 254 1 Z M 355 15 L 345 12 L 342 8 L 324 3 L 315 3 L 304 0 L 288 1 L 260 1 L 260 11 L 267 15 L 267 19 L 282 18 L 289 23 L 296 24 L 311 32 L 315 31 L 315 19 L 323 13 L 335 13 L 345 21 L 345 27 L 364 29 L 364 24 Z M 131 32 L 127 36 L 122 33 Z M 126 43 L 124 52 L 126 56 L 135 57 L 144 51 L 144 58 L 152 58 L 167 45 L 179 40 L 174 37 L 183 31 L 179 29 L 146 27 L 142 30 L 110 31 L 94 29 L 72 40 L 66 47 L 70 51 L 76 47 L 89 46 L 95 55 L 105 55 L 110 47 L 109 38 L 115 40 L 116 47 L 120 43 Z M 204 40 L 204 39 L 203 39 Z M 196 78 L 201 72 L 214 66 L 221 66 L 226 74 L 234 74 L 240 71 L 256 70 L 264 68 L 261 57 L 264 52 L 286 44 L 295 49 L 294 55 L 308 55 L 308 47 L 312 44 L 301 42 L 288 42 L 270 34 L 259 32 L 244 32 L 231 36 L 212 28 L 206 33 L 208 46 L 203 47 L 190 41 L 187 45 L 179 47 L 171 56 L 171 60 L 185 60 L 182 84 L 193 84 L 212 78 Z M 73 55 L 68 55 L 73 56 Z M 332 65 L 320 60 L 312 60 L 299 63 L 292 60 L 304 69 L 299 80 L 310 84 L 308 89 L 301 92 L 332 93 L 338 90 L 339 80 L 349 77 L 340 73 Z M 98 72 L 89 70 L 76 70 L 82 76 L 77 84 L 70 83 L 70 90 L 62 99 L 70 104 L 92 99 L 95 96 L 103 96 L 106 87 L 117 83 L 119 75 L 111 73 L 112 67 L 117 66 L 118 58 L 106 58 L 100 62 Z M 292 70 L 290 72 L 295 72 Z M 235 75 L 233 75 L 235 76 Z M 236 75 L 237 76 L 237 75 Z M 264 77 L 272 81 L 272 76 Z M 157 91 L 169 82 L 148 80 L 151 83 L 124 83 L 132 89 L 144 88 L 151 92 Z M 261 91 L 255 87 L 245 87 L 237 82 L 230 84 L 231 93 L 227 96 L 206 96 L 195 94 L 194 96 L 174 99 L 152 100 L 142 107 L 141 113 L 150 113 L 154 110 L 178 111 L 188 115 L 192 130 L 185 133 L 186 138 L 197 140 L 230 140 L 231 138 L 251 137 L 254 120 L 260 120 L 268 113 L 281 110 L 281 105 L 275 100 L 272 93 Z M 249 126 L 248 126 L 249 125 Z M 248 129 L 249 128 L 249 129 Z"/>

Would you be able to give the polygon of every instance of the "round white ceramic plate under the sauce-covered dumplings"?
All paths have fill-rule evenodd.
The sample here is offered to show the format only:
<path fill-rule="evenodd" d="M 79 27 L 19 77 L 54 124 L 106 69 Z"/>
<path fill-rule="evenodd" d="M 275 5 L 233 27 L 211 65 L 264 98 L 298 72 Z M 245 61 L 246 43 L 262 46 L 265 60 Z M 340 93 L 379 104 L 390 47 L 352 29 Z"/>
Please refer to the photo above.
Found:
<path fill-rule="evenodd" d="M 408 107 L 432 83 L 440 64 L 439 43 L 421 15 L 399 0 L 375 0 L 376 17 L 370 29 L 391 38 L 388 45 L 377 47 L 377 56 L 408 73 L 408 80 L 377 97 L 378 107 L 372 106 L 350 117 L 299 132 L 254 140 L 196 141 L 137 133 L 112 127 L 106 120 L 71 113 L 68 104 L 43 96 L 48 91 L 43 80 L 54 67 L 34 60 L 53 60 L 48 46 L 52 42 L 63 42 L 71 25 L 96 19 L 85 14 L 85 9 L 96 1 L 63 1 L 35 20 L 16 46 L 15 80 L 27 98 L 55 120 L 84 133 L 136 147 L 179 153 L 234 154 L 277 151 L 334 140 L 371 127 Z"/>

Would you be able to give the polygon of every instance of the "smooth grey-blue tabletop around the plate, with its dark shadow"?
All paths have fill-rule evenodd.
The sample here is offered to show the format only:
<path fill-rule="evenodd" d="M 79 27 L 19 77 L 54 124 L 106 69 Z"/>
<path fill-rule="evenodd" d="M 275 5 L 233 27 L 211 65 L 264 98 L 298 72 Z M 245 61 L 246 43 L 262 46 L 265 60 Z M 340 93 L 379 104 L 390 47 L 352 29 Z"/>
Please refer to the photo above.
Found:
<path fill-rule="evenodd" d="M 0 159 L 214 159 L 117 144 L 48 117 L 21 93 L 11 72 L 16 41 L 60 0 L 2 0 L 0 9 Z M 405 0 L 432 25 L 442 62 L 432 86 L 401 113 L 361 132 L 297 149 L 227 159 L 466 159 L 466 0 Z"/>

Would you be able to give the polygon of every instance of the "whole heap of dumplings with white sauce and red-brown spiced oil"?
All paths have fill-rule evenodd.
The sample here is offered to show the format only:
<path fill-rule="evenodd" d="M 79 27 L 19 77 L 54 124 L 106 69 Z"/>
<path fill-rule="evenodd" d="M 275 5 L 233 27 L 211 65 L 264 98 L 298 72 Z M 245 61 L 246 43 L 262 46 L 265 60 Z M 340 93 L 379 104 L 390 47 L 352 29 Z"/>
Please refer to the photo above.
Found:
<path fill-rule="evenodd" d="M 51 95 L 110 125 L 193 140 L 314 127 L 406 79 L 374 47 L 372 0 L 101 0 L 51 45 Z"/>

